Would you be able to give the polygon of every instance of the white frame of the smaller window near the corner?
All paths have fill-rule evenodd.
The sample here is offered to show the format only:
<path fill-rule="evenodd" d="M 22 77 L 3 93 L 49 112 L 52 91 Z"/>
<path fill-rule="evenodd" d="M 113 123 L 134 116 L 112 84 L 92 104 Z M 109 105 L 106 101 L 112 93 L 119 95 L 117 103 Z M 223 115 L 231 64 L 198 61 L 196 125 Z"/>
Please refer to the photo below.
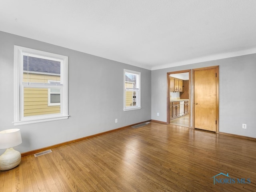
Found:
<path fill-rule="evenodd" d="M 131 74 L 136 74 L 138 75 L 138 79 L 136 79 L 136 82 L 137 82 L 137 88 L 138 90 L 134 90 L 134 91 L 137 91 L 138 94 L 136 94 L 136 99 L 137 99 L 137 102 L 138 104 L 136 106 L 126 106 L 126 89 L 125 89 L 125 74 L 126 73 L 131 73 Z M 128 69 L 124 69 L 124 111 L 129 111 L 129 110 L 136 110 L 136 109 L 141 109 L 141 97 L 140 97 L 140 92 L 141 92 L 141 88 L 140 88 L 140 72 L 137 72 L 137 71 L 132 71 L 132 70 L 128 70 Z M 132 89 L 130 90 L 127 90 L 127 91 L 131 91 Z M 132 90 L 133 91 L 133 90 Z"/>

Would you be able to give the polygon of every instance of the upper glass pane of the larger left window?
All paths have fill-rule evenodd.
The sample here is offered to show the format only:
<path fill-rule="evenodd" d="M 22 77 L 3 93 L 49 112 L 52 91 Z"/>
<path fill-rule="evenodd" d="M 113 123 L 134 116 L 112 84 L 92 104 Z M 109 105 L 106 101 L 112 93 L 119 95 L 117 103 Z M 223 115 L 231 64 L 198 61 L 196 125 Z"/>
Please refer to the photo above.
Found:
<path fill-rule="evenodd" d="M 60 81 L 60 61 L 23 56 L 23 82 Z"/>

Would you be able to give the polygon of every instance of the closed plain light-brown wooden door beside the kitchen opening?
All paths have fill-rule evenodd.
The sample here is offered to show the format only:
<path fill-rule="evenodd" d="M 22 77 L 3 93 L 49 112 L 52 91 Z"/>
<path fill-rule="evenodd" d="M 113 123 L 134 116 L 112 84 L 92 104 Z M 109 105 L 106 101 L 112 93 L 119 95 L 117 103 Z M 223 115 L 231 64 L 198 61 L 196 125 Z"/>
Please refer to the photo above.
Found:
<path fill-rule="evenodd" d="M 217 69 L 194 70 L 194 128 L 217 132 Z"/>

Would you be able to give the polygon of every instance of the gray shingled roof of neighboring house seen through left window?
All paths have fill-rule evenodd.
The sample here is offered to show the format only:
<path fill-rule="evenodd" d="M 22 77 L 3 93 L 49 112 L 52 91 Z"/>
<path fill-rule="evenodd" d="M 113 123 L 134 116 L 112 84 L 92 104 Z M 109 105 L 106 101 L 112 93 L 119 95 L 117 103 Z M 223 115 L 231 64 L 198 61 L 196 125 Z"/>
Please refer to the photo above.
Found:
<path fill-rule="evenodd" d="M 23 56 L 23 71 L 60 74 L 60 62 Z"/>

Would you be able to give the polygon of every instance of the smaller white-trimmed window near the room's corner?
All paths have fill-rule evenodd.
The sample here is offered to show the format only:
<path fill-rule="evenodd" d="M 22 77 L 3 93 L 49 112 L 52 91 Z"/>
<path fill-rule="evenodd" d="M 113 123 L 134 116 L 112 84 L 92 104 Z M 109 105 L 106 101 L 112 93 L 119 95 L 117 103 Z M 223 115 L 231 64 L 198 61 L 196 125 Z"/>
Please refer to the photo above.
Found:
<path fill-rule="evenodd" d="M 140 72 L 124 69 L 124 111 L 140 108 Z"/>

